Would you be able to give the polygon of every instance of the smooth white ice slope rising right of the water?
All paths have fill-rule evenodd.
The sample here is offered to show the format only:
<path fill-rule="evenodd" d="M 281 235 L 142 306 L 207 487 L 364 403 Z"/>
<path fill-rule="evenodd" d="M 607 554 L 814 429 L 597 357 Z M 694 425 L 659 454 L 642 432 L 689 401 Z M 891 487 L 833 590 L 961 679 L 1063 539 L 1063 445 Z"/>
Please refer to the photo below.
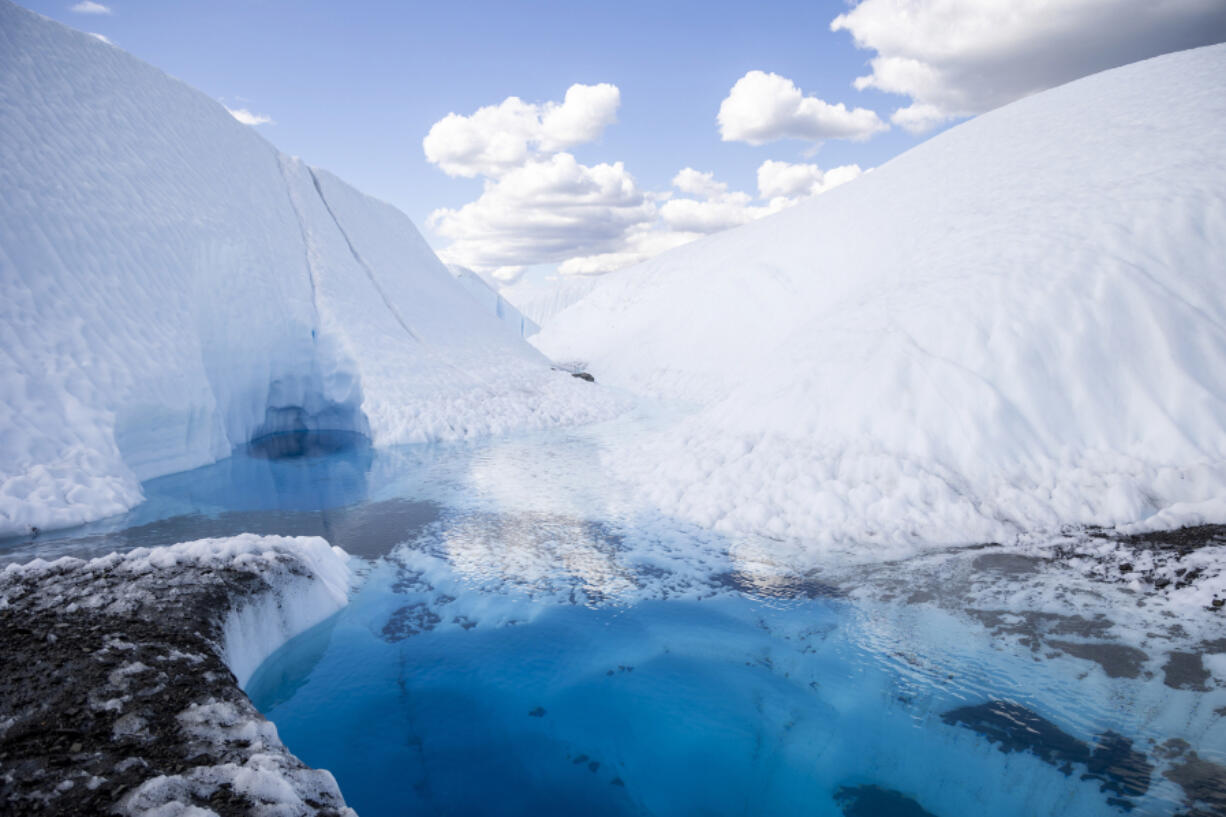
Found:
<path fill-rule="evenodd" d="M 1215 45 L 1007 105 L 536 342 L 704 406 L 618 464 L 722 530 L 885 553 L 1226 521 L 1224 77 Z"/>

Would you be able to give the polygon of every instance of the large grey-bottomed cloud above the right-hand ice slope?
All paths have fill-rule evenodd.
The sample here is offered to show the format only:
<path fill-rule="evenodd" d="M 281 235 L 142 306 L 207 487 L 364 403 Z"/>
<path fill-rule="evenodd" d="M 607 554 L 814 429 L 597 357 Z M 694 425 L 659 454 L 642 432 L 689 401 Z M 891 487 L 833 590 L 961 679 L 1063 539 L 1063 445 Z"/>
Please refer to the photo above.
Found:
<path fill-rule="evenodd" d="M 877 53 L 857 88 L 913 132 L 1095 71 L 1226 39 L 1221 0 L 862 0 L 830 23 Z"/>

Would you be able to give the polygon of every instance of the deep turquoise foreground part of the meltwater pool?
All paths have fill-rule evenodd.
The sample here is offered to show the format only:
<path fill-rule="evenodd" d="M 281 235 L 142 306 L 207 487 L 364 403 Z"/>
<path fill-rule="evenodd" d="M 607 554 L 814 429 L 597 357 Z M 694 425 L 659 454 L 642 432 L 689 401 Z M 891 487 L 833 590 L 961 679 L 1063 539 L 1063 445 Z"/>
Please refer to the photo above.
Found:
<path fill-rule="evenodd" d="M 644 579 L 635 600 L 573 599 L 563 575 L 472 570 L 473 532 L 444 514 L 365 567 L 351 606 L 248 685 L 360 815 L 1171 815 L 1182 800 L 1151 756 L 1187 702 L 1152 685 L 836 593 L 711 581 L 660 599 Z"/>

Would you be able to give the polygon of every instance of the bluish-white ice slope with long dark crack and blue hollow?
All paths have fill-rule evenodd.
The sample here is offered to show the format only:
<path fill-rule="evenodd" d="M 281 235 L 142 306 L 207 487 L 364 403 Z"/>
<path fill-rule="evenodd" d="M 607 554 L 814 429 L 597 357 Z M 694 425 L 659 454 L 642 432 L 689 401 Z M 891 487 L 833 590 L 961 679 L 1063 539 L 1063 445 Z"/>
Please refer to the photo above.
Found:
<path fill-rule="evenodd" d="M 287 428 L 590 415 L 413 224 L 218 103 L 0 0 L 0 535 Z"/>

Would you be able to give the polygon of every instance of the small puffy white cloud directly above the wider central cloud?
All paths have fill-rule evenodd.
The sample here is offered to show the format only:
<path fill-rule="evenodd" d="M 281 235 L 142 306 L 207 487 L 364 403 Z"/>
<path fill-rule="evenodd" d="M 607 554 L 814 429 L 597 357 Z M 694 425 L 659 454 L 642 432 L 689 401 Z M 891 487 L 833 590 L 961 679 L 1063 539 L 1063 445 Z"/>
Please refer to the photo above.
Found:
<path fill-rule="evenodd" d="M 617 121 L 617 86 L 573 85 L 558 102 L 532 104 L 508 97 L 462 117 L 450 113 L 422 140 L 425 158 L 447 175 L 499 177 L 546 153 L 600 137 Z"/>

